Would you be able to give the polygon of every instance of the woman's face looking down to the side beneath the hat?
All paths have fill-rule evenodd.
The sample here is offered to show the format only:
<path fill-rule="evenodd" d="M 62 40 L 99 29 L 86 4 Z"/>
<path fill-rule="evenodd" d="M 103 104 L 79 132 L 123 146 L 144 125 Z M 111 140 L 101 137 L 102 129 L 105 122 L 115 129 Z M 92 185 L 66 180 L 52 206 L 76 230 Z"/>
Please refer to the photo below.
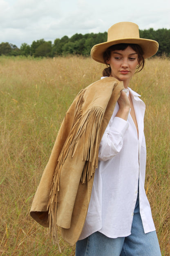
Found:
<path fill-rule="evenodd" d="M 138 54 L 128 46 L 125 50 L 113 50 L 110 53 L 111 75 L 119 81 L 123 81 L 124 86 L 127 85 L 136 71 L 138 63 Z"/>

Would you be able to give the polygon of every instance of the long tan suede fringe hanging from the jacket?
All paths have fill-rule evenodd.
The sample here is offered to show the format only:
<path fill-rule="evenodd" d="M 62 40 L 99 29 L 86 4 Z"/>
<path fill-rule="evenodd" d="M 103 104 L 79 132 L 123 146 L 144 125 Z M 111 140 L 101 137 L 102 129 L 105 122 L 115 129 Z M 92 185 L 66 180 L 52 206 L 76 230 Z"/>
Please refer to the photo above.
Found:
<path fill-rule="evenodd" d="M 98 167 L 98 148 L 100 143 L 101 126 L 104 117 L 104 111 L 101 107 L 92 106 L 87 112 L 83 113 L 82 107 L 84 103 L 83 89 L 79 93 L 79 99 L 76 104 L 76 116 L 73 121 L 73 127 L 58 158 L 58 165 L 54 172 L 53 183 L 49 196 L 47 210 L 49 211 L 49 230 L 53 243 L 58 244 L 60 250 L 56 213 L 57 213 L 57 196 L 59 192 L 60 173 L 65 159 L 69 156 L 74 157 L 76 150 L 79 149 L 79 142 L 83 143 L 82 161 L 85 161 L 81 182 L 88 182 L 94 175 L 95 169 Z M 60 251 L 61 252 L 61 251 Z"/>

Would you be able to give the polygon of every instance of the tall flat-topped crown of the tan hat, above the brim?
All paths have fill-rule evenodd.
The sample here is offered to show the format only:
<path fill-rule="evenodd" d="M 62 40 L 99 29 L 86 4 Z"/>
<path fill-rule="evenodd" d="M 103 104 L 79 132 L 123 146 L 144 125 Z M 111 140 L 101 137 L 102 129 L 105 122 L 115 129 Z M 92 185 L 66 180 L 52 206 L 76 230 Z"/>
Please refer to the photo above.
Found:
<path fill-rule="evenodd" d="M 139 38 L 139 27 L 137 24 L 119 22 L 108 29 L 107 42 L 125 38 Z"/>

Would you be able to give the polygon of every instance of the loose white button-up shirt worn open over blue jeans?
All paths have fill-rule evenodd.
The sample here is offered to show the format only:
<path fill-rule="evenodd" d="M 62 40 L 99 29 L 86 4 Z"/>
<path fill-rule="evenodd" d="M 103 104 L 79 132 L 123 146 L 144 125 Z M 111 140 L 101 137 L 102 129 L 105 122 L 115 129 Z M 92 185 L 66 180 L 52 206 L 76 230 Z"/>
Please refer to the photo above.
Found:
<path fill-rule="evenodd" d="M 79 240 L 100 231 L 110 238 L 131 234 L 139 181 L 139 206 L 145 233 L 154 231 L 150 204 L 145 194 L 146 145 L 143 133 L 145 104 L 139 94 L 131 93 L 136 126 L 129 113 L 125 121 L 115 117 L 116 107 L 101 139 L 98 169 L 95 171 L 92 196 L 85 225 Z"/>

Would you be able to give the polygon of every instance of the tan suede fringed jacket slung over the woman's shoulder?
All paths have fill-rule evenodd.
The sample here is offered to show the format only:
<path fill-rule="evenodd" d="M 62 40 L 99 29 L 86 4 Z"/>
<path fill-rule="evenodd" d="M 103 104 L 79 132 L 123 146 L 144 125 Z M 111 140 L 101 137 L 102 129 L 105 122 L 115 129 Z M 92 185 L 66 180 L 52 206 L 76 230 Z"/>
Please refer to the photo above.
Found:
<path fill-rule="evenodd" d="M 58 132 L 31 206 L 30 215 L 57 240 L 74 245 L 83 229 L 98 166 L 98 148 L 123 82 L 98 80 L 74 99 Z"/>

